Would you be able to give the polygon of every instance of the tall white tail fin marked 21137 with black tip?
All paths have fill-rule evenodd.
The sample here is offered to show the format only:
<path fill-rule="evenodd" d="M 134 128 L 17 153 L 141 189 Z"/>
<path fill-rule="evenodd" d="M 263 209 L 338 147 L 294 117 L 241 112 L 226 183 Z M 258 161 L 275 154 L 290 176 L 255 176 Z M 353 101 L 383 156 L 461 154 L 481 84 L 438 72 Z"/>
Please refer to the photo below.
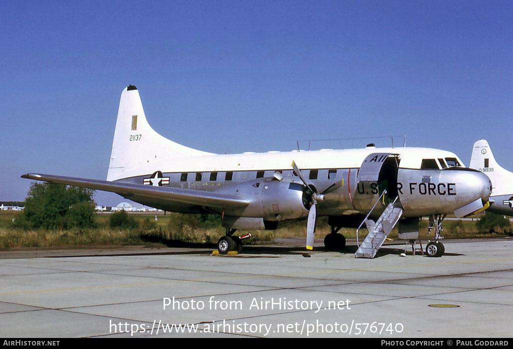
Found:
<path fill-rule="evenodd" d="M 107 180 L 146 174 L 148 170 L 144 166 L 157 160 L 208 154 L 182 146 L 155 132 L 146 120 L 137 88 L 130 85 L 123 90 Z"/>

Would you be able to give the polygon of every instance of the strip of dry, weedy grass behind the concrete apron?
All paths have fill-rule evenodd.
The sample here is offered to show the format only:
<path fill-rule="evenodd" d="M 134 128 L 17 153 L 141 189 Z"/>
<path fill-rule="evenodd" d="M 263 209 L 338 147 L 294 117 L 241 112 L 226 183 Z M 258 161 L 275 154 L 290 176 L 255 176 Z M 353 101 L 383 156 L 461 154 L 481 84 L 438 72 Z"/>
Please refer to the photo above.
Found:
<path fill-rule="evenodd" d="M 225 235 L 225 229 L 220 219 L 212 215 L 183 215 L 166 214 L 130 214 L 137 222 L 137 228 L 119 229 L 109 227 L 108 214 L 96 215 L 94 229 L 85 230 L 23 230 L 13 228 L 13 219 L 16 220 L 19 212 L 0 211 L 0 249 L 12 248 L 41 248 L 41 247 L 81 247 L 87 245 L 162 245 L 173 244 L 177 241 L 185 243 L 212 244 Z M 305 237 L 306 220 L 284 221 L 277 230 L 249 231 L 252 237 L 245 240 L 245 244 L 257 244 L 262 241 L 273 241 L 276 238 Z M 346 238 L 356 238 L 355 229 L 341 229 L 339 231 Z M 245 234 L 246 231 L 238 231 Z M 316 238 L 324 238 L 330 233 L 326 217 L 318 220 Z M 367 234 L 362 229 L 360 238 Z M 427 234 L 427 220 L 421 222 L 420 237 L 430 238 L 434 233 Z M 390 233 L 390 238 L 397 238 L 397 229 Z M 480 233 L 475 221 L 446 220 L 444 222 L 444 235 L 446 238 L 472 238 L 504 236 L 499 233 Z"/>

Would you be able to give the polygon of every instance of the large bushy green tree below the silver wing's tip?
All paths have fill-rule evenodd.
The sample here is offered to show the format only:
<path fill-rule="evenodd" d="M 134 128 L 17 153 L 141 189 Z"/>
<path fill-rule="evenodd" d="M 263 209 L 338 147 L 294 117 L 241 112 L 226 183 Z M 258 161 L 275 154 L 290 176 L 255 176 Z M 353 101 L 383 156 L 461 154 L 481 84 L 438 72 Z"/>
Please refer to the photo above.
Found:
<path fill-rule="evenodd" d="M 23 216 L 31 228 L 94 227 L 94 190 L 53 183 L 32 183 Z"/>

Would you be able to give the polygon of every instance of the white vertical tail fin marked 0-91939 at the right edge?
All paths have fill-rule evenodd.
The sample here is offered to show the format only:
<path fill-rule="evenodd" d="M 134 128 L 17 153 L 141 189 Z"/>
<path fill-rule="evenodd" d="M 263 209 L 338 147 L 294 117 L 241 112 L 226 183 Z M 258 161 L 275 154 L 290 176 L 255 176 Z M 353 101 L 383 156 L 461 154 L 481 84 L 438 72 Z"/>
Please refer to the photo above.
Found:
<path fill-rule="evenodd" d="M 492 196 L 513 194 L 513 172 L 497 163 L 485 139 L 474 143 L 469 167 L 485 173 L 490 178 L 493 186 Z"/>

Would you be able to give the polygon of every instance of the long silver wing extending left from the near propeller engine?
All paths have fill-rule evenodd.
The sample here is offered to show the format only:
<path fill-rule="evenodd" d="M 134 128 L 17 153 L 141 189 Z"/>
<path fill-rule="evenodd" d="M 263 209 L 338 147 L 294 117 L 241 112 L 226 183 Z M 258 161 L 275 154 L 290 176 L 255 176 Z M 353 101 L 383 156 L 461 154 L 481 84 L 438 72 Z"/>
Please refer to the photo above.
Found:
<path fill-rule="evenodd" d="M 199 190 L 153 187 L 141 184 L 112 182 L 100 179 L 55 176 L 41 173 L 27 173 L 22 178 L 42 180 L 49 183 L 67 184 L 68 186 L 103 190 L 119 194 L 125 198 L 137 201 L 141 198 L 158 200 L 159 206 L 168 207 L 176 204 L 186 204 L 216 209 L 244 209 L 249 201 L 234 195 L 205 192 Z M 157 207 L 158 208 L 158 207 Z"/>

